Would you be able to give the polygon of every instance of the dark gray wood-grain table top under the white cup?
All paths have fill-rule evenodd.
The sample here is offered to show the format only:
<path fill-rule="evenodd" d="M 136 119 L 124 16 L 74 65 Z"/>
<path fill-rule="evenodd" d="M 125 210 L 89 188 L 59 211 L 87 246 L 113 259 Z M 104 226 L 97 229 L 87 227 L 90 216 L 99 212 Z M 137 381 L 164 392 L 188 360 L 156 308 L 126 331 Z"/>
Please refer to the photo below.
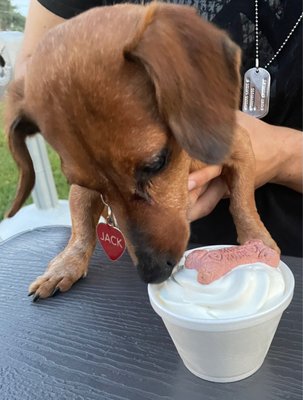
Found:
<path fill-rule="evenodd" d="M 261 369 L 235 383 L 207 382 L 183 365 L 127 255 L 97 247 L 71 291 L 32 303 L 27 287 L 69 238 L 38 228 L 0 244 L 1 400 L 301 400 L 302 260 L 282 259 L 296 279 Z"/>

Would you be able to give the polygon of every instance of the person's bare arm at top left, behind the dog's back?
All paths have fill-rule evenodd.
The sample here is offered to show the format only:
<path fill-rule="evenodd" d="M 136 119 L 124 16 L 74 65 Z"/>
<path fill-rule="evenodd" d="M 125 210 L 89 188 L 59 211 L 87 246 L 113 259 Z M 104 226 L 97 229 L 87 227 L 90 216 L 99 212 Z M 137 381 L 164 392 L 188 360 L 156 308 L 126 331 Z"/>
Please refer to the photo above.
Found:
<path fill-rule="evenodd" d="M 53 14 L 37 0 L 31 0 L 26 18 L 24 40 L 15 65 L 15 78 L 24 74 L 26 62 L 31 57 L 42 36 L 65 19 Z"/>

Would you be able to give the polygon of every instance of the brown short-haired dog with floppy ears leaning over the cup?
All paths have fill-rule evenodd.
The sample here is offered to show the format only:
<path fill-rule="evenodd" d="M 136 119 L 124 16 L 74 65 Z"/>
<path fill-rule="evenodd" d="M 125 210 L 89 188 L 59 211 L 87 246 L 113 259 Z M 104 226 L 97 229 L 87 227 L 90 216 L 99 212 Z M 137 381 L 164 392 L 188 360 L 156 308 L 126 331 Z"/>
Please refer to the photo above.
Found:
<path fill-rule="evenodd" d="M 189 7 L 92 9 L 52 29 L 8 93 L 6 125 L 20 169 L 14 215 L 35 174 L 25 145 L 41 131 L 72 184 L 72 236 L 32 283 L 34 299 L 87 273 L 111 205 L 145 282 L 169 277 L 189 238 L 190 171 L 224 164 L 238 240 L 277 245 L 254 201 L 254 156 L 235 126 L 240 51 Z M 205 165 L 205 164 L 204 164 Z"/>

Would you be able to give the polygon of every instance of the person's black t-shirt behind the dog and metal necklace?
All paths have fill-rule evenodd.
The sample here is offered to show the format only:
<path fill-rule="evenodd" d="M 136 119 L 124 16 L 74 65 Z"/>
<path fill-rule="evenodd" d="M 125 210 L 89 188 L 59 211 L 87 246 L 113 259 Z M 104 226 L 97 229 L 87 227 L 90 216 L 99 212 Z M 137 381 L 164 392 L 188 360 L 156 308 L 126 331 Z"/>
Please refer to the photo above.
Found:
<path fill-rule="evenodd" d="M 111 0 L 39 0 L 63 17 L 71 18 L 92 7 L 123 3 Z M 140 4 L 142 1 L 134 0 Z M 171 0 L 194 6 L 201 16 L 229 32 L 243 52 L 242 72 L 255 65 L 254 0 Z M 302 13 L 298 0 L 259 0 L 260 66 L 274 56 Z M 271 74 L 270 112 L 264 121 L 302 130 L 302 21 L 283 50 L 268 67 Z M 302 195 L 286 187 L 267 184 L 256 190 L 256 203 L 267 229 L 285 255 L 302 255 Z M 236 231 L 222 200 L 207 217 L 192 223 L 191 241 L 236 243 Z"/>

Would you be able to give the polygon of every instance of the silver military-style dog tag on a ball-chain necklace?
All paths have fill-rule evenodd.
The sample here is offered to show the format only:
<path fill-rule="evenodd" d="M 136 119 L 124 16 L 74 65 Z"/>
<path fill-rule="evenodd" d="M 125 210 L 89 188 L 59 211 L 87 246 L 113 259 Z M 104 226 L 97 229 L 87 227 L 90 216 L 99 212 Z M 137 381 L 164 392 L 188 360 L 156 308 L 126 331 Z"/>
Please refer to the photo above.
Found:
<path fill-rule="evenodd" d="M 263 118 L 268 113 L 270 99 L 270 74 L 267 71 L 267 68 L 284 48 L 302 18 L 303 13 L 299 16 L 297 22 L 292 27 L 291 31 L 273 57 L 268 61 L 264 68 L 261 68 L 259 66 L 259 10 L 258 0 L 255 0 L 256 62 L 255 66 L 246 71 L 244 75 L 242 111 L 246 114 L 257 118 Z"/>

